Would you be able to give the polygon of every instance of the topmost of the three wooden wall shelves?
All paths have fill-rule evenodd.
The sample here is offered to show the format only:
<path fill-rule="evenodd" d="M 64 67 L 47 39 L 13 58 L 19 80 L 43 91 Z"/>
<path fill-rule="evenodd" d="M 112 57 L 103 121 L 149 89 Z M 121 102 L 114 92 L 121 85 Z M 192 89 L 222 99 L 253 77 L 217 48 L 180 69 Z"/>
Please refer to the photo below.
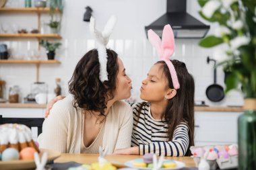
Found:
<path fill-rule="evenodd" d="M 0 8 L 0 12 L 49 12 L 49 7 L 2 7 Z M 55 12 L 60 12 L 59 9 L 55 9 Z"/>

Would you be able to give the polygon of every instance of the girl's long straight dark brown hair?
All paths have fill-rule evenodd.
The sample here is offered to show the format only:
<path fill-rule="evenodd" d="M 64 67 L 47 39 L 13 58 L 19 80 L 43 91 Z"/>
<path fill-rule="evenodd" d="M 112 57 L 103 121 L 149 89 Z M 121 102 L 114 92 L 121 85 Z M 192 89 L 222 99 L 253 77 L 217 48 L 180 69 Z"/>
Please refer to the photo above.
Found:
<path fill-rule="evenodd" d="M 164 119 L 168 123 L 169 140 L 172 140 L 175 128 L 181 122 L 187 122 L 187 125 L 189 126 L 189 147 L 185 156 L 190 156 L 191 152 L 189 148 L 194 145 L 195 83 L 193 77 L 187 71 L 187 67 L 184 62 L 180 62 L 179 60 L 171 60 L 171 62 L 177 72 L 180 88 L 177 89 L 177 94 L 168 101 L 166 111 L 164 113 Z M 164 61 L 158 61 L 156 64 L 162 65 L 162 71 L 168 80 L 168 87 L 174 89 L 170 71 L 166 63 Z"/>

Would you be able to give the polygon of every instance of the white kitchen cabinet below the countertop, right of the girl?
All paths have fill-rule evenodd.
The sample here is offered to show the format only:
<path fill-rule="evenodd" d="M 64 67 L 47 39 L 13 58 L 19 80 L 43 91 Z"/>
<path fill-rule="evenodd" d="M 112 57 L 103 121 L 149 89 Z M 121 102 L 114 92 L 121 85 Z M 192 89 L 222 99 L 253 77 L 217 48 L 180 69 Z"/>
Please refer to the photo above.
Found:
<path fill-rule="evenodd" d="M 195 145 L 237 143 L 237 120 L 242 112 L 195 112 Z"/>

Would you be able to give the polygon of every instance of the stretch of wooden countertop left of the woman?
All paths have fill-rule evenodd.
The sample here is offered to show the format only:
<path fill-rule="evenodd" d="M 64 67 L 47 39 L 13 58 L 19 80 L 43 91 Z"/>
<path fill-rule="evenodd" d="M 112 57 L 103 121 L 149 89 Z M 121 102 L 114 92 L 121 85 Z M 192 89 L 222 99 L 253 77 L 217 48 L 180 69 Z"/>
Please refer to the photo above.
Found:
<path fill-rule="evenodd" d="M 0 103 L 0 108 L 46 108 L 46 104 L 36 104 L 36 103 Z"/>

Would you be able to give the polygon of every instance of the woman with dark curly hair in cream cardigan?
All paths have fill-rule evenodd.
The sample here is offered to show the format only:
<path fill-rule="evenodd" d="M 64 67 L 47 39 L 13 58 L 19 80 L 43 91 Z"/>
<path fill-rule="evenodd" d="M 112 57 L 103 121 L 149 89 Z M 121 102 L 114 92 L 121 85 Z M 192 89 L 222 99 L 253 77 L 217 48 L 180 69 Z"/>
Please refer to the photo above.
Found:
<path fill-rule="evenodd" d="M 133 115 L 121 99 L 131 95 L 131 79 L 122 60 L 106 50 L 108 81 L 100 80 L 98 50 L 90 50 L 77 63 L 65 99 L 53 105 L 38 136 L 40 148 L 61 153 L 107 153 L 131 146 Z"/>

